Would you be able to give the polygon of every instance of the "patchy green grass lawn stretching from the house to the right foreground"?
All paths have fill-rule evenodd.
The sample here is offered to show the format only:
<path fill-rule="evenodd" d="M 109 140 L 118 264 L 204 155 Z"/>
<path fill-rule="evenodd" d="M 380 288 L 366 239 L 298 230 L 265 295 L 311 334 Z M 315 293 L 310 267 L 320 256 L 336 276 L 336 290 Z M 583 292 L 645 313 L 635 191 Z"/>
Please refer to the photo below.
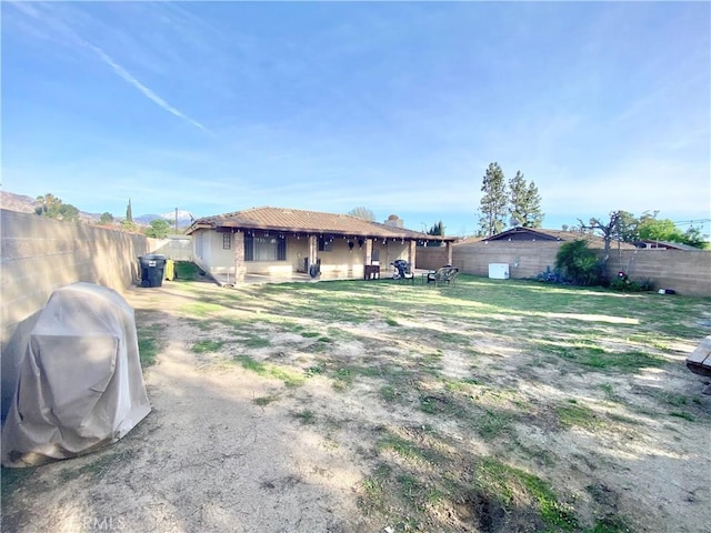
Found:
<path fill-rule="evenodd" d="M 333 439 L 327 421 L 340 418 L 341 440 L 358 440 L 371 472 L 360 509 L 392 531 L 644 531 L 607 475 L 634 460 L 600 449 L 671 451 L 691 426 L 711 429 L 683 368 L 709 333 L 708 299 L 467 275 L 193 289 L 181 311 L 196 348 L 291 389 L 318 376 L 368 405 L 370 423 L 347 429 L 349 413 L 292 391 L 299 423 Z"/>

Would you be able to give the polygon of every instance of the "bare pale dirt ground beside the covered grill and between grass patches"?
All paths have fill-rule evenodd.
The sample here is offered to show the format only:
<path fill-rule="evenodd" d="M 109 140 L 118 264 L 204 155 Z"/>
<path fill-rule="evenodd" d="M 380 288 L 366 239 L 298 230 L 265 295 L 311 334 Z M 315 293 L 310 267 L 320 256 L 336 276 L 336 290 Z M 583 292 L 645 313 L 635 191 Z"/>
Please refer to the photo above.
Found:
<path fill-rule="evenodd" d="M 206 284 L 201 291 L 218 294 L 226 289 Z M 373 503 L 382 496 L 369 491 L 373 471 L 387 461 L 402 462 L 394 446 L 375 442 L 383 442 L 388 434 L 390 443 L 399 442 L 393 439 L 400 435 L 424 445 L 437 431 L 445 435 L 438 441 L 441 453 L 449 454 L 448 464 L 457 464 L 461 475 L 471 457 L 507 445 L 505 434 L 487 440 L 463 431 L 455 416 L 447 414 L 447 405 L 433 421 L 432 412 L 413 410 L 407 401 L 381 401 L 383 382 L 377 379 L 339 389 L 331 378 L 316 373 L 299 386 L 288 386 L 283 380 L 231 364 L 240 352 L 231 344 L 196 353 L 191 349 L 196 339 L 228 338 L 229 332 L 218 326 L 202 331 L 186 320 L 181 309 L 190 298 L 171 285 L 130 291 L 127 300 L 137 316 L 159 326 L 164 335 L 157 364 L 144 373 L 151 414 L 102 452 L 17 474 L 12 493 L 3 495 L 2 531 L 412 531 L 415 526 L 407 517 L 389 516 L 387 505 Z M 412 318 L 405 325 L 448 328 L 425 318 Z M 343 324 L 343 329 L 354 340 L 333 346 L 331 356 L 339 361 L 381 358 L 405 364 L 397 361 L 425 342 L 424 338 L 394 342 L 378 316 Z M 251 350 L 254 360 L 302 369 L 318 363 L 319 354 L 309 350 L 311 340 L 278 329 L 271 333 L 268 348 Z M 373 345 L 362 339 L 372 340 Z M 488 389 L 480 401 L 512 409 L 525 404 L 530 420 L 517 418 L 510 430 L 521 450 L 520 465 L 535 465 L 539 475 L 544 474 L 578 509 L 585 510 L 582 520 L 592 524 L 593 515 L 619 513 L 627 517 L 628 531 L 711 531 L 708 396 L 699 396 L 694 406 L 700 415 L 690 422 L 660 420 L 648 394 L 650 390 L 689 394 L 690 388 L 700 393 L 699 376 L 683 366 L 684 354 L 693 345 L 674 346 L 680 364 L 663 382 L 654 370 L 634 378 L 605 378 L 610 394 L 640 406 L 635 420 L 615 412 L 619 403 L 605 403 L 601 395 L 601 424 L 560 431 L 559 419 L 548 408 L 551 399 L 571 401 L 599 384 L 591 383 L 590 375 L 563 373 L 547 364 L 532 366 L 529 361 L 523 369 L 523 363 L 504 358 L 517 350 L 505 338 L 477 342 L 483 353 L 479 376 L 514 391 L 502 399 Z M 380 348 L 374 351 L 375 345 Z M 487 361 L 495 364 L 489 366 Z M 452 380 L 477 378 L 471 361 L 455 349 L 441 353 L 441 368 Z M 521 372 L 532 379 L 512 378 Z M 447 402 L 438 391 L 432 385 L 431 394 L 420 395 L 434 405 L 434 412 L 437 402 Z M 430 515 L 430 522 L 420 522 L 421 531 L 544 531 L 535 521 L 527 525 L 523 511 L 515 514 L 488 505 L 473 493 L 431 507 Z M 572 531 L 593 530 L 578 525 Z M 622 530 L 594 533 L 605 531 Z"/>

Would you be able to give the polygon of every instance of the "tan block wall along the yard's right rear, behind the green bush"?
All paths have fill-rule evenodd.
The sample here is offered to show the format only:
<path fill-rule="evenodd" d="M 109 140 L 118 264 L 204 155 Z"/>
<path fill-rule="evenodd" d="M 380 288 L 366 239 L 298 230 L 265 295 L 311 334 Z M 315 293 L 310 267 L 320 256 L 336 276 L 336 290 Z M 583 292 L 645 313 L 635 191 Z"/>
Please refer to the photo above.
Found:
<path fill-rule="evenodd" d="M 452 264 L 460 272 L 489 275 L 489 263 L 508 263 L 512 279 L 535 278 L 555 264 L 562 242 L 475 242 L 453 247 Z M 602 250 L 595 250 L 602 255 Z M 418 269 L 434 270 L 447 263 L 443 248 L 419 248 Z M 614 278 L 624 270 L 635 281 L 650 279 L 657 288 L 679 294 L 711 296 L 711 251 L 615 250 L 610 252 L 608 273 Z"/>

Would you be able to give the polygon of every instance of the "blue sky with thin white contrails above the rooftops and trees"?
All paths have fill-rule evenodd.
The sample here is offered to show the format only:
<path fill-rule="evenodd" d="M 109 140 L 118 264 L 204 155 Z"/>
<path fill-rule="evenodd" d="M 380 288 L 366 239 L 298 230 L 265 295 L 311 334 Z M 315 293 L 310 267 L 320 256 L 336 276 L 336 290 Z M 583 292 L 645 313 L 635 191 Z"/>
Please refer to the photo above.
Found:
<path fill-rule="evenodd" d="M 1 9 L 9 192 L 116 217 L 365 207 L 464 235 L 497 161 L 545 228 L 711 217 L 708 2 Z"/>

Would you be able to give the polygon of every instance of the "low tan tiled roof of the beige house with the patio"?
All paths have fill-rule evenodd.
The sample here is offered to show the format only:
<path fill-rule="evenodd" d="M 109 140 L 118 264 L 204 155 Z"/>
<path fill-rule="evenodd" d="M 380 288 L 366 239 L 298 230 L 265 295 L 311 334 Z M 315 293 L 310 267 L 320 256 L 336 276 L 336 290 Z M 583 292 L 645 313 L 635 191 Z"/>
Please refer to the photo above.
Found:
<path fill-rule="evenodd" d="M 246 211 L 218 214 L 196 220 L 188 229 L 236 228 L 247 230 L 272 230 L 293 233 L 318 233 L 352 237 L 417 239 L 430 241 L 454 241 L 454 237 L 430 235 L 395 225 L 370 222 L 350 214 L 321 213 L 286 208 L 253 208 Z"/>

